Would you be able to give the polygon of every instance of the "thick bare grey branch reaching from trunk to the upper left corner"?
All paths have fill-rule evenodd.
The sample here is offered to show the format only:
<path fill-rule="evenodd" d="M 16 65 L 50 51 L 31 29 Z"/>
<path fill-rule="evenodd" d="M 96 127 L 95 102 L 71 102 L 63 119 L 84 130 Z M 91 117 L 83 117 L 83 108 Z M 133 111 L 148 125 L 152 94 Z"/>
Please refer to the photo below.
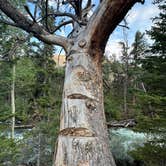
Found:
<path fill-rule="evenodd" d="M 0 9 L 15 22 L 17 27 L 25 30 L 28 33 L 32 33 L 39 40 L 47 44 L 56 44 L 62 46 L 65 50 L 68 49 L 69 41 L 67 38 L 48 33 L 41 25 L 34 23 L 20 13 L 15 7 L 12 6 L 10 2 L 8 2 L 8 0 L 0 0 Z M 14 24 L 12 26 L 14 26 Z"/>

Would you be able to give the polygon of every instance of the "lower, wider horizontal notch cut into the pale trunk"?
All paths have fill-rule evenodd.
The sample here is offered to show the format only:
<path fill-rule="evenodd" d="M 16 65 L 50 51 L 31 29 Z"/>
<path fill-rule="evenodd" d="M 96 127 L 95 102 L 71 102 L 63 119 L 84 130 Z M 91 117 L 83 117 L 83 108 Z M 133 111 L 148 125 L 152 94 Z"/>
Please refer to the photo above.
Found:
<path fill-rule="evenodd" d="M 69 127 L 61 130 L 59 132 L 59 135 L 61 136 L 75 136 L 75 137 L 95 137 L 95 134 L 84 127 Z"/>

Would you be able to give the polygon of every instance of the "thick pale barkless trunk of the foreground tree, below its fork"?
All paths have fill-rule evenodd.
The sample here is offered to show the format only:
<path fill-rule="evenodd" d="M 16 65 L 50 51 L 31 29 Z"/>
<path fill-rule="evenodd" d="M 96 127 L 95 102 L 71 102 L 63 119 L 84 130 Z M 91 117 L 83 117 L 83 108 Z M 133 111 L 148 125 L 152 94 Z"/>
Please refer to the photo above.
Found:
<path fill-rule="evenodd" d="M 100 54 L 76 51 L 67 58 L 54 166 L 115 166 L 102 86 Z"/>

